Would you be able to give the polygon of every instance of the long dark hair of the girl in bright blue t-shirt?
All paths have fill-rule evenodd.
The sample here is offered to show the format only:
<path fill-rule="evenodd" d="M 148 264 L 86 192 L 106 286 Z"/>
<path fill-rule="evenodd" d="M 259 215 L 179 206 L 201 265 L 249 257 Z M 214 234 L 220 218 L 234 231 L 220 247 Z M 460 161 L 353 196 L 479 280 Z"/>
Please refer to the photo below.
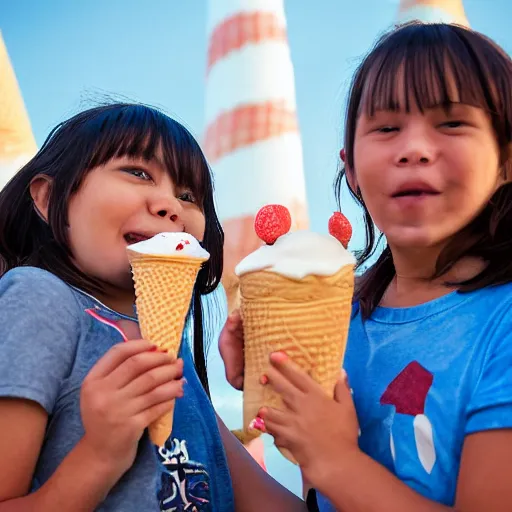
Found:
<path fill-rule="evenodd" d="M 405 105 L 400 105 L 398 80 L 405 85 Z M 402 82 L 403 81 L 403 82 Z M 435 106 L 449 108 L 450 87 L 457 88 L 460 101 L 488 112 L 500 148 L 503 176 L 512 177 L 512 61 L 486 36 L 457 25 L 412 22 L 381 37 L 358 67 L 352 81 L 345 122 L 347 168 L 357 172 L 354 138 L 363 110 L 377 109 L 423 112 Z M 342 166 L 335 181 L 338 205 L 345 176 Z M 361 268 L 376 254 L 377 237 L 372 218 L 359 191 L 351 195 L 364 210 L 366 246 L 358 254 Z M 512 281 L 512 185 L 501 186 L 488 205 L 468 226 L 457 233 L 441 252 L 432 278 L 443 276 L 465 256 L 483 258 L 486 268 L 477 276 L 456 284 L 461 292 Z M 376 263 L 358 280 L 354 299 L 363 318 L 378 306 L 395 268 L 386 244 Z"/>

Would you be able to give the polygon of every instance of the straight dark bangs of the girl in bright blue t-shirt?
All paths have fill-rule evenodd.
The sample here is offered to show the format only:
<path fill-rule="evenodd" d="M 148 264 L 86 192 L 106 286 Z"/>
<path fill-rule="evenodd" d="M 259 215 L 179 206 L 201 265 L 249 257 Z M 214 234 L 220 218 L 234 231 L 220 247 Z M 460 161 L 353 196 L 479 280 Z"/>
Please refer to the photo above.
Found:
<path fill-rule="evenodd" d="M 463 38 L 445 26 L 430 30 L 403 29 L 402 40 L 389 38 L 368 60 L 361 107 L 403 110 L 446 106 L 461 102 L 496 112 L 496 88 L 489 83 L 488 63 L 480 60 Z M 426 72 L 427 71 L 427 72 Z"/>

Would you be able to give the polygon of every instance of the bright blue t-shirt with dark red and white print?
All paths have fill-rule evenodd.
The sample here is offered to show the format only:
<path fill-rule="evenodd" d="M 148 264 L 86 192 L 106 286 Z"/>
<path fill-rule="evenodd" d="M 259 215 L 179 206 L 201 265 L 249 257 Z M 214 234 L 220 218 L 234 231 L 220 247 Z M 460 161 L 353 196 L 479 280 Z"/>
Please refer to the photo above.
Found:
<path fill-rule="evenodd" d="M 512 284 L 361 320 L 345 357 L 363 452 L 452 506 L 465 436 L 512 428 Z M 322 512 L 334 510 L 319 496 Z"/>

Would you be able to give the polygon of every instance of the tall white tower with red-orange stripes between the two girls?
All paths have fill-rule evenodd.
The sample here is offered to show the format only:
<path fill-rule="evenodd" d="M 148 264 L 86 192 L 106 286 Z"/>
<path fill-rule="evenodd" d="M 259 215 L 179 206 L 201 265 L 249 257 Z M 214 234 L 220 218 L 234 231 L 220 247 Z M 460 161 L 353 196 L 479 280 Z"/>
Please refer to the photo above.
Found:
<path fill-rule="evenodd" d="M 204 145 L 226 235 L 231 310 L 234 267 L 261 244 L 255 214 L 279 203 L 292 228 L 305 228 L 306 189 L 283 0 L 209 0 L 208 14 Z"/>

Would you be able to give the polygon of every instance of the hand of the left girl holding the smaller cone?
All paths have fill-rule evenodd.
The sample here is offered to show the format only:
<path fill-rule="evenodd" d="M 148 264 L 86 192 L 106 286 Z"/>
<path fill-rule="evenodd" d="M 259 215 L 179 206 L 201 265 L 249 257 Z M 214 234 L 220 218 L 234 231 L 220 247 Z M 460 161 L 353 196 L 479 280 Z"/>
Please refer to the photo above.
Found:
<path fill-rule="evenodd" d="M 124 473 L 135 460 L 144 429 L 183 396 L 182 375 L 182 360 L 171 360 L 147 341 L 111 348 L 82 385 L 83 442 Z"/>

